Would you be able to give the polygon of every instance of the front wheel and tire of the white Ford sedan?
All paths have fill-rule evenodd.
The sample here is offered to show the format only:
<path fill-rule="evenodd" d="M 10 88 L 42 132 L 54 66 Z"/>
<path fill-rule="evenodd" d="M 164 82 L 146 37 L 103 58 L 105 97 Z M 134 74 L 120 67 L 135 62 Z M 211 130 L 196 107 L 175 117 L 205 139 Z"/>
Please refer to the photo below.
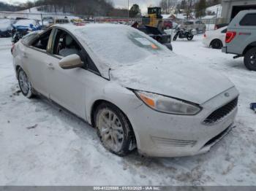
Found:
<path fill-rule="evenodd" d="M 113 104 L 100 104 L 94 112 L 97 135 L 103 147 L 118 156 L 128 155 L 135 136 L 128 118 Z"/>

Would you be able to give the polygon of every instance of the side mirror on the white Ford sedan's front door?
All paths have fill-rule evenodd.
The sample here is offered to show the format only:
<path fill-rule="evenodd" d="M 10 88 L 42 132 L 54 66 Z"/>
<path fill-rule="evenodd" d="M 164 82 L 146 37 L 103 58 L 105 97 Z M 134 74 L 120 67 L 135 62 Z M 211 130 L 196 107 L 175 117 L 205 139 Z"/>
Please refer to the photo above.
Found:
<path fill-rule="evenodd" d="M 74 54 L 62 58 L 61 61 L 59 61 L 59 66 L 61 69 L 75 69 L 83 66 L 83 62 L 79 55 Z"/>

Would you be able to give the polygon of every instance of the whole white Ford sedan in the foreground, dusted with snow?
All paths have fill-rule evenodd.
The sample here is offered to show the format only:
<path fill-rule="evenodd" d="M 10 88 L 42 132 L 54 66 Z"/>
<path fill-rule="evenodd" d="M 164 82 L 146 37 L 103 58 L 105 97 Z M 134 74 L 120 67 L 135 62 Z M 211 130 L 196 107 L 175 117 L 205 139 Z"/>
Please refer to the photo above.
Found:
<path fill-rule="evenodd" d="M 83 118 L 116 155 L 197 155 L 233 128 L 232 82 L 129 26 L 52 26 L 25 36 L 12 55 L 23 95 Z"/>

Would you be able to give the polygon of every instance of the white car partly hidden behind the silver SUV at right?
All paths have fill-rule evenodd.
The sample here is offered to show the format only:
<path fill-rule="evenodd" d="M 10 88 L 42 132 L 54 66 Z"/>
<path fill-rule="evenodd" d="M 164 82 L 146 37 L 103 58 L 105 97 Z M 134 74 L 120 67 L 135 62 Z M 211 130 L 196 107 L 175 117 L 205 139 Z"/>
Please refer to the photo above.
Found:
<path fill-rule="evenodd" d="M 206 31 L 203 35 L 203 44 L 205 44 L 206 47 L 221 49 L 225 46 L 226 32 L 227 26 L 214 31 Z"/>

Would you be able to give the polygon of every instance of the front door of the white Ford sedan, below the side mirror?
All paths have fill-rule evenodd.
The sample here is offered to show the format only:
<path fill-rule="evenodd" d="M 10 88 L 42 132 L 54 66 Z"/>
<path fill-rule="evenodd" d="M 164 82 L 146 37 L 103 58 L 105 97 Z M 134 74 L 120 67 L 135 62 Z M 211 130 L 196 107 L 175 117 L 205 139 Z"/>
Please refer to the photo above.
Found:
<path fill-rule="evenodd" d="M 79 117 L 86 117 L 85 103 L 86 103 L 86 74 L 87 71 L 83 67 L 76 69 L 61 69 L 59 66 L 59 61 L 62 58 L 74 53 L 74 50 L 66 52 L 66 55 L 61 55 L 61 50 L 67 49 L 64 47 L 67 44 L 65 41 L 65 35 L 71 36 L 67 31 L 62 29 L 57 29 L 55 34 L 55 39 L 52 45 L 52 55 L 48 59 L 48 69 L 47 69 L 47 79 L 46 82 L 49 85 L 50 99 L 55 101 L 57 104 L 63 106 L 69 111 L 75 113 Z M 61 36 L 62 35 L 62 36 Z M 75 40 L 75 46 L 79 46 L 79 51 L 83 51 L 83 48 Z M 64 45 L 63 45 L 64 44 Z M 86 62 L 83 58 L 84 55 L 78 52 L 80 58 L 83 62 Z"/>

